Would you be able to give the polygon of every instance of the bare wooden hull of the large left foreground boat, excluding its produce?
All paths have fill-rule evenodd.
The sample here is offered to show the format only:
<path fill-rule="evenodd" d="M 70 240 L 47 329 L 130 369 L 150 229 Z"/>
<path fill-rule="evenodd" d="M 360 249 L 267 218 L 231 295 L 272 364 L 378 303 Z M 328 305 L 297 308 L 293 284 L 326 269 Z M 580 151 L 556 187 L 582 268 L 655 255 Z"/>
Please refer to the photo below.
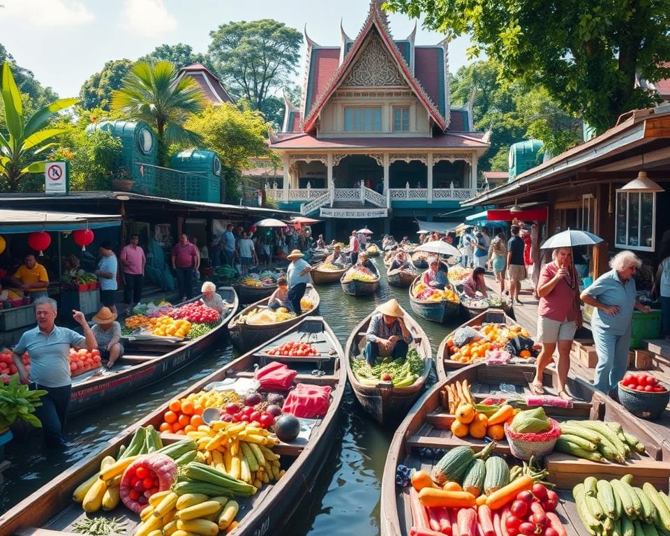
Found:
<path fill-rule="evenodd" d="M 240 499 L 240 511 L 236 520 L 239 526 L 234 530 L 235 536 L 259 536 L 276 533 L 289 519 L 301 502 L 301 498 L 311 489 L 309 483 L 315 482 L 318 474 L 327 459 L 327 454 L 336 440 L 339 431 L 338 417 L 341 408 L 343 393 L 346 386 L 346 373 L 341 362 L 343 351 L 337 337 L 321 317 L 309 317 L 299 321 L 287 332 L 268 341 L 262 348 L 257 348 L 246 355 L 225 364 L 218 371 L 199 380 L 188 389 L 177 394 L 175 398 L 183 398 L 192 392 L 199 392 L 211 382 L 218 382 L 226 378 L 252 378 L 254 366 L 262 366 L 267 359 L 265 352 L 268 348 L 283 341 L 299 340 L 308 334 L 312 344 L 322 348 L 324 352 L 319 357 L 281 358 L 295 369 L 298 374 L 294 383 L 308 383 L 313 385 L 329 385 L 332 387 L 331 402 L 327 414 L 318 419 L 313 426 L 308 440 L 295 440 L 290 443 L 281 443 L 273 447 L 273 451 L 281 456 L 282 468 L 286 473 L 278 482 L 264 484 L 262 489 L 248 499 Z M 317 340 L 319 342 L 314 342 Z M 334 350 L 328 355 L 328 350 Z M 326 358 L 325 355 L 328 355 Z M 272 357 L 277 360 L 278 358 Z M 312 375 L 315 362 L 324 375 Z M 116 456 L 121 445 L 128 445 L 137 426 L 152 424 L 158 428 L 163 422 L 163 414 L 167 403 L 161 404 L 154 412 L 137 421 L 133 426 L 119 433 L 109 440 L 94 456 L 76 463 L 72 468 L 53 479 L 31 496 L 25 498 L 10 509 L 0 514 L 0 534 L 3 535 L 71 535 L 73 523 L 84 519 L 87 514 L 81 505 L 73 502 L 72 494 L 75 488 L 98 471 L 101 460 L 106 455 Z M 181 435 L 163 433 L 163 442 L 168 444 L 174 440 L 183 439 Z M 96 512 L 89 517 L 105 517 L 127 520 L 126 534 L 132 535 L 137 526 L 137 515 L 130 512 L 123 505 L 119 505 L 111 512 Z"/>

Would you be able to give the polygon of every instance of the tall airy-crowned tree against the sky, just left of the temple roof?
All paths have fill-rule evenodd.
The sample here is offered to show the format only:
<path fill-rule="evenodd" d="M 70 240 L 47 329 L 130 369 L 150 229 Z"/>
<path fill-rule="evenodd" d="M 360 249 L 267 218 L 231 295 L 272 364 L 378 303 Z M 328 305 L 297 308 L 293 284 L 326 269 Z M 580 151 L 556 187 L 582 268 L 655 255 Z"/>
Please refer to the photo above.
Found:
<path fill-rule="evenodd" d="M 263 110 L 271 90 L 295 73 L 302 35 L 281 22 L 230 22 L 209 35 L 216 72 L 235 96 L 246 97 L 255 110 Z"/>

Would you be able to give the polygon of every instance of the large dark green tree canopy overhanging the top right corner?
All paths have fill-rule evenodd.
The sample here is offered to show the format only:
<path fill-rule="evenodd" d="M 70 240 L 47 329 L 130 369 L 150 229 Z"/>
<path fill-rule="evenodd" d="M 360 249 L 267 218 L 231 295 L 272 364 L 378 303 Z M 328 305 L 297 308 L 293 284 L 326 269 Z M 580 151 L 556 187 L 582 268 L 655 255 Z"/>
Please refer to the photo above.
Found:
<path fill-rule="evenodd" d="M 670 0 L 387 0 L 385 6 L 449 38 L 470 34 L 507 80 L 542 84 L 569 112 L 602 132 L 655 104 L 638 73 L 670 76 Z"/>

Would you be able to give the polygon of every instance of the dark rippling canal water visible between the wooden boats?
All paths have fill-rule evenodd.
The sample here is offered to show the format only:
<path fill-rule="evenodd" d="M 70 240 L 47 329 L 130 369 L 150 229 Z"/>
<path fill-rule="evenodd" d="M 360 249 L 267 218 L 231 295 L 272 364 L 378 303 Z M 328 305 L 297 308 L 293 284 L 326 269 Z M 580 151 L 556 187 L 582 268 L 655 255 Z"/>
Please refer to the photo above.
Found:
<path fill-rule="evenodd" d="M 319 285 L 320 313 L 345 346 L 352 329 L 375 306 L 392 297 L 412 313 L 406 288 L 389 286 L 381 258 L 374 260 L 382 274 L 374 296 L 345 295 L 339 284 Z M 416 317 L 415 317 L 416 318 Z M 442 326 L 418 318 L 433 346 L 438 346 L 455 326 Z M 237 357 L 230 342 L 199 359 L 191 368 L 151 385 L 122 400 L 76 415 L 68 421 L 72 447 L 54 454 L 40 445 L 13 441 L 6 447 L 11 466 L 4 472 L 0 489 L 0 512 L 5 512 L 60 472 L 96 452 L 100 445 L 139 417 L 172 399 L 194 380 L 208 375 Z M 434 380 L 433 380 L 434 381 Z M 380 426 L 359 408 L 350 387 L 341 408 L 340 432 L 311 493 L 297 507 L 284 530 L 285 535 L 376 536 L 379 534 L 380 486 L 386 454 L 394 429 Z"/>

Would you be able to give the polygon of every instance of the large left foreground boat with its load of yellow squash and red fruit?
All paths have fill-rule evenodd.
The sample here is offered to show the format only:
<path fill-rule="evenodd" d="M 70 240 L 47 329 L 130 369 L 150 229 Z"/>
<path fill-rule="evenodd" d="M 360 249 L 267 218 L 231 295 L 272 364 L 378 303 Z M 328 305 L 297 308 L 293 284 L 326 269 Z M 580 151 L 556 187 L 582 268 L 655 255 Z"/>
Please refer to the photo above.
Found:
<path fill-rule="evenodd" d="M 312 362 L 267 361 L 271 347 L 304 336 L 319 350 Z M 336 442 L 346 373 L 320 317 L 257 350 L 175 392 L 4 512 L 0 533 L 251 536 L 281 528 Z"/>

